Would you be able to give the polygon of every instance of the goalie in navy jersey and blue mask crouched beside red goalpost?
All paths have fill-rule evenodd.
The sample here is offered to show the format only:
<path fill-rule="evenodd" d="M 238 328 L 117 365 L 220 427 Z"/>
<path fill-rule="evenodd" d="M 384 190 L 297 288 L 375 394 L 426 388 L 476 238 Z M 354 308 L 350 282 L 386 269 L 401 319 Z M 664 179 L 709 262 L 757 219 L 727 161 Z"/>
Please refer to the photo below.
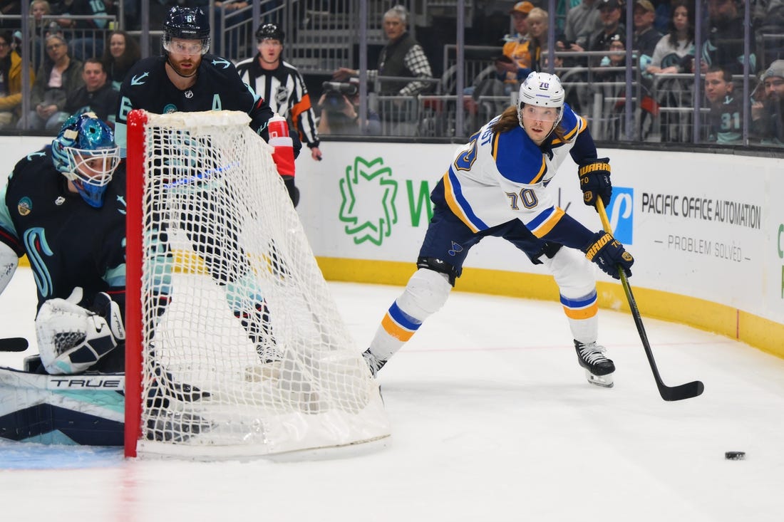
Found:
<path fill-rule="evenodd" d="M 0 198 L 0 292 L 27 254 L 35 332 L 50 374 L 122 372 L 125 169 L 109 126 L 71 116 L 50 147 L 16 164 Z"/>

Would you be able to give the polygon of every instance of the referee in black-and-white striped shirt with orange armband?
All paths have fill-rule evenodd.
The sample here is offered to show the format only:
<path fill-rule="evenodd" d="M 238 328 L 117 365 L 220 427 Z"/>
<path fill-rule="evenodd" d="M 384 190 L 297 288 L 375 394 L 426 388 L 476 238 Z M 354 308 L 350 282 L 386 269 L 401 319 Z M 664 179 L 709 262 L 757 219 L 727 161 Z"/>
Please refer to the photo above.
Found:
<path fill-rule="evenodd" d="M 299 140 L 310 148 L 310 157 L 321 161 L 316 114 L 305 81 L 296 67 L 281 60 L 284 37 L 277 24 L 262 24 L 256 29 L 259 53 L 238 63 L 237 71 L 274 112 L 289 121 L 289 127 L 293 124 Z"/>

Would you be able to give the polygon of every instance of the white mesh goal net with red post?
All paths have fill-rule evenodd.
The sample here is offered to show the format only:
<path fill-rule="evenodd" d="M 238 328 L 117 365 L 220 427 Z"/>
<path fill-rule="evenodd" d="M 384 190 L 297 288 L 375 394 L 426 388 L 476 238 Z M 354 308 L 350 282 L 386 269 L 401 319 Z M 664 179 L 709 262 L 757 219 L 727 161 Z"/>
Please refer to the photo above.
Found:
<path fill-rule="evenodd" d="M 230 111 L 132 111 L 125 454 L 241 458 L 386 437 L 271 157 Z"/>

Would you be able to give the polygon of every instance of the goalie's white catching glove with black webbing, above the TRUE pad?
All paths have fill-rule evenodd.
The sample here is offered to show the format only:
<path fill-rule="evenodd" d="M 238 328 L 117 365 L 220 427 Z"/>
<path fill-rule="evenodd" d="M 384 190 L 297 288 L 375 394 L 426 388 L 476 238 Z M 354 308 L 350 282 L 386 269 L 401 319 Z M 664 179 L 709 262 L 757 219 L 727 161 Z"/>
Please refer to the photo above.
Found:
<path fill-rule="evenodd" d="M 81 300 L 76 287 L 68 299 L 43 303 L 35 317 L 38 352 L 49 374 L 85 372 L 125 340 L 120 307 L 108 294 L 97 294 L 92 310 L 79 306 Z"/>

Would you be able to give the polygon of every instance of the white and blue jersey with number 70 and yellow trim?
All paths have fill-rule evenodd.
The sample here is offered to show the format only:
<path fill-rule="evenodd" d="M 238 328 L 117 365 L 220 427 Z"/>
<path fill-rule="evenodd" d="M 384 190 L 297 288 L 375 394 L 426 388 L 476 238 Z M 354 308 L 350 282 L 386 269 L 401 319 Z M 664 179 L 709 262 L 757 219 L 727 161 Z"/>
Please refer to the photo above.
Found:
<path fill-rule="evenodd" d="M 578 163 L 597 157 L 585 119 L 564 104 L 560 123 L 563 139 L 551 134 L 539 146 L 519 125 L 506 132 L 493 132 L 492 125 L 498 118 L 479 129 L 457 151 L 444 176 L 449 208 L 474 232 L 520 219 L 536 237 L 583 246 L 586 229 L 568 216 L 568 226 L 551 234 L 565 214 L 546 187 L 568 155 Z"/>

